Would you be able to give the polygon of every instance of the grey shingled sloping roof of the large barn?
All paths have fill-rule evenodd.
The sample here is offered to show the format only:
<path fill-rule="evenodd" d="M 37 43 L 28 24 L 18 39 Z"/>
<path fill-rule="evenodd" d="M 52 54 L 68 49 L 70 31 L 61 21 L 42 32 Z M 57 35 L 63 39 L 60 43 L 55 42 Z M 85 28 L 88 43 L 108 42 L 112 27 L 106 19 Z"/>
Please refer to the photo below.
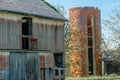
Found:
<path fill-rule="evenodd" d="M 0 11 L 66 20 L 42 0 L 0 0 Z"/>

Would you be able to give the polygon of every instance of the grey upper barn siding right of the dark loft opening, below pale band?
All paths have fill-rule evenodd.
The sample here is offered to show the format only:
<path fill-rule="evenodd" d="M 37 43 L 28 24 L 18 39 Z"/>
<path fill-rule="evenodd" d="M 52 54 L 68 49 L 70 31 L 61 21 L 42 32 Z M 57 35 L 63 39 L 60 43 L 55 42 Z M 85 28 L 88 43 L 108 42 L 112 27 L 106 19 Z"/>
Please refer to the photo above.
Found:
<path fill-rule="evenodd" d="M 34 23 L 33 35 L 38 38 L 38 49 L 53 52 L 64 51 L 63 25 L 49 25 Z"/>

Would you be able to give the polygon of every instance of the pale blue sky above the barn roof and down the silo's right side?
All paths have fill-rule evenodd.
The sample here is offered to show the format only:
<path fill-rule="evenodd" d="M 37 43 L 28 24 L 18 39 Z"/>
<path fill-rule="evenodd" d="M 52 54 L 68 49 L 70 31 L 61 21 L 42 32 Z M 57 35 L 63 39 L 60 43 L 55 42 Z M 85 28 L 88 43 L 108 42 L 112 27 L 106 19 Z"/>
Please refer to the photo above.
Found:
<path fill-rule="evenodd" d="M 64 6 L 67 15 L 66 18 L 69 18 L 69 9 L 73 7 L 98 7 L 98 9 L 101 11 L 101 32 L 104 36 L 104 39 L 106 42 L 109 42 L 110 31 L 105 30 L 103 26 L 103 20 L 109 19 L 109 15 L 113 13 L 113 10 L 120 6 L 120 0 L 45 0 L 52 4 L 53 6 Z M 116 45 L 108 44 L 108 46 L 115 47 Z"/>

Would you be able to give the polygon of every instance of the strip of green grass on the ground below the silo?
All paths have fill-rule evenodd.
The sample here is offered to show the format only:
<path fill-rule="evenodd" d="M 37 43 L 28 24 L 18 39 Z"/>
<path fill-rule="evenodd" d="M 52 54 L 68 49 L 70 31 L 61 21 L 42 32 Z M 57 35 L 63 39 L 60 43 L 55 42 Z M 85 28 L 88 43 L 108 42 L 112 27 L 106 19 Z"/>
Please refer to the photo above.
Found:
<path fill-rule="evenodd" d="M 120 76 L 112 74 L 106 76 L 91 76 L 91 77 L 67 77 L 65 80 L 120 80 Z"/>

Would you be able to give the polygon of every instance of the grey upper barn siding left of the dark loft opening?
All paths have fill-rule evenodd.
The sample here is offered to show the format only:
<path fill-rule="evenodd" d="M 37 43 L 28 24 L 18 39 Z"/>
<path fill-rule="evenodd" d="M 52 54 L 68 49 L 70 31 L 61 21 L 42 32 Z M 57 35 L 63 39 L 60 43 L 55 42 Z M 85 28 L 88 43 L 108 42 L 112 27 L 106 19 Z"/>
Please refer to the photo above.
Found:
<path fill-rule="evenodd" d="M 0 13 L 0 49 L 20 49 L 21 23 L 9 14 Z"/>

